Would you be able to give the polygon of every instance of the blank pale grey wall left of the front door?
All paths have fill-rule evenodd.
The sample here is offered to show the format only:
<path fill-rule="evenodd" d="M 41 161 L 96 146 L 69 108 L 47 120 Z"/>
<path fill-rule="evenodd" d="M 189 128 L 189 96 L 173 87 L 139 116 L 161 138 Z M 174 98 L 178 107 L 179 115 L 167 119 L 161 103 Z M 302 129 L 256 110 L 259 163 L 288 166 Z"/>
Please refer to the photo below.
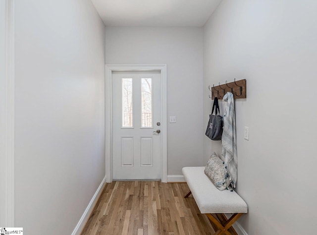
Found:
<path fill-rule="evenodd" d="M 105 26 L 90 0 L 15 2 L 15 226 L 69 235 L 105 176 Z"/>

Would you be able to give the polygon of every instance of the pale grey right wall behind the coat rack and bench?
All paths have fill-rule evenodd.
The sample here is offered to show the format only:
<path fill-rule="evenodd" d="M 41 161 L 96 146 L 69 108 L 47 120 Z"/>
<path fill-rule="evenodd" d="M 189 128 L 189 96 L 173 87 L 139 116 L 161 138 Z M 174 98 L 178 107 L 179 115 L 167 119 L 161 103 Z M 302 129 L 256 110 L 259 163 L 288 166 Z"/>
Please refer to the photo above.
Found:
<path fill-rule="evenodd" d="M 223 0 L 204 26 L 204 123 L 208 85 L 247 79 L 235 104 L 249 235 L 316 234 L 316 9 L 313 0 Z M 211 149 L 220 153 L 220 142 L 204 141 L 205 159 Z"/>

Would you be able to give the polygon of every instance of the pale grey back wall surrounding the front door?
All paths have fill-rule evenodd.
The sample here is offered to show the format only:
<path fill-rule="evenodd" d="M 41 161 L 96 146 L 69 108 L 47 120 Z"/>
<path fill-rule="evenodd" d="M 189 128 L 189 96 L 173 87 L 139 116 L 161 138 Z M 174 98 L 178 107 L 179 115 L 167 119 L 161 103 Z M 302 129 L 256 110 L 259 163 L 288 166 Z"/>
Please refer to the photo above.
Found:
<path fill-rule="evenodd" d="M 106 64 L 167 64 L 167 175 L 201 166 L 203 29 L 106 27 Z"/>

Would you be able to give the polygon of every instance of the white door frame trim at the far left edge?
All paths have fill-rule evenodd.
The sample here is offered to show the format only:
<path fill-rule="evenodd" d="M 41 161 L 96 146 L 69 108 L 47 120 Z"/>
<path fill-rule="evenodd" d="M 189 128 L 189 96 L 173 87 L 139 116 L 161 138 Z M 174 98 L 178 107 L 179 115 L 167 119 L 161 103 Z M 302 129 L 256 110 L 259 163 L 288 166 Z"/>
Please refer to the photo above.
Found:
<path fill-rule="evenodd" d="M 14 227 L 14 3 L 0 0 L 0 225 Z"/>

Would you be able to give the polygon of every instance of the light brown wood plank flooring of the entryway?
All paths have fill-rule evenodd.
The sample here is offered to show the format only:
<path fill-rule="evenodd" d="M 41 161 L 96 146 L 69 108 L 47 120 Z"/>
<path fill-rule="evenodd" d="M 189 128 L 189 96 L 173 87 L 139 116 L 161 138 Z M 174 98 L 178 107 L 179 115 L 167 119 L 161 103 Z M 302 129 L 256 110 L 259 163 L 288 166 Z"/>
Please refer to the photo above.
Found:
<path fill-rule="evenodd" d="M 106 187 L 82 235 L 213 235 L 186 183 L 114 181 Z"/>

